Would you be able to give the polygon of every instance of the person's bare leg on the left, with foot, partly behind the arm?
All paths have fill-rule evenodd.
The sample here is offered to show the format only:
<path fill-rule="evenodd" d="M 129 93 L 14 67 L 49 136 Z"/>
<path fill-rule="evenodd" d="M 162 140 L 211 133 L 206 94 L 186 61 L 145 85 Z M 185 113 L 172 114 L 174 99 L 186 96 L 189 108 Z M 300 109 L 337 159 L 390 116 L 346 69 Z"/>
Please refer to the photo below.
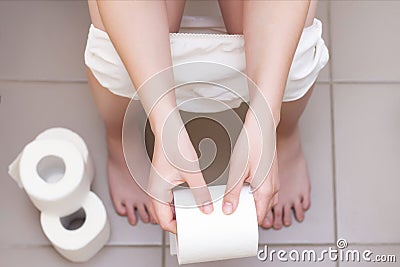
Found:
<path fill-rule="evenodd" d="M 98 11 L 97 2 L 88 1 L 88 3 L 93 25 L 96 28 L 105 30 Z M 166 2 L 169 29 L 171 32 L 179 30 L 184 4 L 184 1 Z M 157 19 L 157 17 L 154 19 Z M 151 52 L 149 51 L 149 53 Z M 108 182 L 114 208 L 118 214 L 127 216 L 129 223 L 132 225 L 135 225 L 138 221 L 135 210 L 139 213 L 143 222 L 151 221 L 155 223 L 149 197 L 132 179 L 123 155 L 122 123 L 129 99 L 114 95 L 107 88 L 101 86 L 89 69 L 87 69 L 87 76 L 96 106 L 106 128 Z M 132 142 L 138 142 L 139 144 L 139 142 L 143 142 L 144 137 L 142 136 L 143 129 L 139 129 L 137 126 L 143 125 L 146 114 L 144 110 L 140 108 L 140 105 L 135 105 L 135 108 L 137 109 L 135 110 L 135 121 L 132 122 L 129 130 L 132 131 L 130 135 L 132 137 Z M 140 170 L 136 170 L 136 172 L 142 177 L 148 177 L 150 167 L 149 161 L 147 160 L 146 151 L 142 148 L 143 146 L 141 145 L 132 148 L 132 151 L 135 152 L 135 161 L 141 162 L 142 164 L 140 165 L 144 166 Z"/>

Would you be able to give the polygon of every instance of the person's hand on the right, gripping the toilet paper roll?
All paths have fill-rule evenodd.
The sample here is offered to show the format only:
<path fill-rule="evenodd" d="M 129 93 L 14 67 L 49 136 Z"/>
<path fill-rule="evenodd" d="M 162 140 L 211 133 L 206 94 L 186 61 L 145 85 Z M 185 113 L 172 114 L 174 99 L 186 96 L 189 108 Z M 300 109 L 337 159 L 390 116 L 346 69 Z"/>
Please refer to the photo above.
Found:
<path fill-rule="evenodd" d="M 271 121 L 268 118 L 261 120 L 248 111 L 231 155 L 222 206 L 225 214 L 233 213 L 238 206 L 243 183 L 249 182 L 254 190 L 258 224 L 262 224 L 267 211 L 276 204 L 279 189 L 275 126 L 272 117 Z"/>

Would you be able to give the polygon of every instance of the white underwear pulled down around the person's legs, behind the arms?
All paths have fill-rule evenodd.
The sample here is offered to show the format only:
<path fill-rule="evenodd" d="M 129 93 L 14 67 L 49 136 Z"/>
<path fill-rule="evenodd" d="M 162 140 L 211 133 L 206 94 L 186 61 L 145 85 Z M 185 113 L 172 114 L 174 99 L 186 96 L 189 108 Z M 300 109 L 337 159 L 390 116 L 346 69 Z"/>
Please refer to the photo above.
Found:
<path fill-rule="evenodd" d="M 245 52 L 243 35 L 171 33 L 171 54 L 173 65 L 190 62 L 215 62 L 227 65 L 245 73 Z M 293 101 L 304 96 L 318 77 L 320 70 L 329 60 L 329 52 L 322 39 L 322 24 L 314 19 L 311 26 L 305 28 L 294 55 L 286 83 L 284 102 Z M 108 34 L 90 26 L 85 50 L 85 64 L 92 71 L 98 82 L 110 92 L 138 99 L 135 88 Z M 235 74 L 236 73 L 236 74 Z M 232 72 L 232 82 L 238 72 Z M 215 73 L 202 73 L 218 83 Z M 217 75 L 218 76 L 218 75 Z M 223 78 L 227 79 L 226 75 Z M 187 77 L 177 77 L 175 81 L 187 81 Z M 204 84 L 177 88 L 175 90 L 177 105 L 189 112 L 219 112 L 237 108 L 243 101 L 248 101 L 248 89 L 244 86 L 235 94 L 219 86 Z M 216 101 L 201 101 L 212 99 Z M 188 101 L 191 100 L 191 101 Z M 221 101 L 223 104 L 218 104 Z"/>

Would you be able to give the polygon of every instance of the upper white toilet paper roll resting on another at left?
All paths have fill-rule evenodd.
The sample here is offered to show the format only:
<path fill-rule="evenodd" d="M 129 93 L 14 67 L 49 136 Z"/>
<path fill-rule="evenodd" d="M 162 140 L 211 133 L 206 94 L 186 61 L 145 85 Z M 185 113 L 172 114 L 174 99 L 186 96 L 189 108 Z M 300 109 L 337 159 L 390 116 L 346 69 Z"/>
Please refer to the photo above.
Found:
<path fill-rule="evenodd" d="M 61 163 L 61 164 L 60 164 Z M 43 168 L 40 168 L 44 165 Z M 65 168 L 64 169 L 62 168 Z M 19 179 L 33 204 L 40 210 L 65 216 L 78 210 L 90 191 L 91 177 L 81 152 L 68 141 L 35 140 L 21 153 Z M 54 170 L 54 169 L 62 169 Z M 45 181 L 39 174 L 61 172 Z"/>

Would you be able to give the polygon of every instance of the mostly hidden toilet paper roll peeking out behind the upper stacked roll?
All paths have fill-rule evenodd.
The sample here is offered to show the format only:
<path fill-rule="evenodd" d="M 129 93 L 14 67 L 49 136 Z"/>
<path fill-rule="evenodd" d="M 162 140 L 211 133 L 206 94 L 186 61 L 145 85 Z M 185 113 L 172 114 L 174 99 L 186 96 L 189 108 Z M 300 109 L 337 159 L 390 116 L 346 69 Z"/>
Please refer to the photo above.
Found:
<path fill-rule="evenodd" d="M 94 168 L 93 162 L 89 154 L 89 150 L 85 141 L 77 133 L 66 128 L 51 128 L 40 133 L 35 140 L 64 140 L 69 141 L 78 148 L 85 161 L 86 175 L 93 180 Z"/>

